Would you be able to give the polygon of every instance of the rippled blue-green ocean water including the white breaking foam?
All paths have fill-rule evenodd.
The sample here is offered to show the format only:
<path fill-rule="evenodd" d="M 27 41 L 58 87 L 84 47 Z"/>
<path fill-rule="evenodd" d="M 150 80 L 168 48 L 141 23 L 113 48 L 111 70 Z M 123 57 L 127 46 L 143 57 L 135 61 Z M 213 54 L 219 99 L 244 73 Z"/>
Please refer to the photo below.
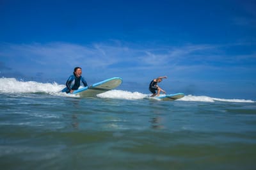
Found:
<path fill-rule="evenodd" d="M 64 86 L 0 79 L 1 169 L 256 169 L 253 100 Z"/>

